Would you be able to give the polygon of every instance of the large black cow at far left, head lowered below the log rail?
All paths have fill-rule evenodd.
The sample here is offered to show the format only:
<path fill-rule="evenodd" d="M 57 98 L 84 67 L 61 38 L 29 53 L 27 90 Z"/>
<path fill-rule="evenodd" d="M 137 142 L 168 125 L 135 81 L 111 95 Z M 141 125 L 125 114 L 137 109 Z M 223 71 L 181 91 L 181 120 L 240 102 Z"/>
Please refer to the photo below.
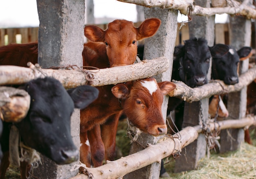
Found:
<path fill-rule="evenodd" d="M 70 117 L 74 108 L 84 109 L 98 96 L 98 89 L 88 85 L 65 90 L 53 78 L 35 79 L 20 86 L 31 97 L 27 116 L 14 125 L 22 142 L 52 159 L 56 164 L 69 164 L 79 159 L 79 151 L 70 134 Z M 4 155 L 9 155 L 9 129 L 11 123 L 3 122 L 0 144 Z M 0 176 L 9 166 L 3 157 Z"/>

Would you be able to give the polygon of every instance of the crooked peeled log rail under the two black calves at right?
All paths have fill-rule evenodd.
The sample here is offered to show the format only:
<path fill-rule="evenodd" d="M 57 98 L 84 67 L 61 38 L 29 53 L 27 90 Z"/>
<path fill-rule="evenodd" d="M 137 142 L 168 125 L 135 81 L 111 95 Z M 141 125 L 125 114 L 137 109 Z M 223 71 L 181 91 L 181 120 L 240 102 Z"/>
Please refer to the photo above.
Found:
<path fill-rule="evenodd" d="M 171 97 L 177 97 L 189 103 L 199 101 L 202 98 L 213 96 L 214 94 L 223 94 L 229 92 L 238 92 L 256 79 L 256 66 L 250 68 L 239 77 L 239 83 L 235 85 L 226 85 L 223 81 L 214 80 L 206 85 L 191 88 L 181 81 L 173 81 L 176 89 L 169 93 Z"/>

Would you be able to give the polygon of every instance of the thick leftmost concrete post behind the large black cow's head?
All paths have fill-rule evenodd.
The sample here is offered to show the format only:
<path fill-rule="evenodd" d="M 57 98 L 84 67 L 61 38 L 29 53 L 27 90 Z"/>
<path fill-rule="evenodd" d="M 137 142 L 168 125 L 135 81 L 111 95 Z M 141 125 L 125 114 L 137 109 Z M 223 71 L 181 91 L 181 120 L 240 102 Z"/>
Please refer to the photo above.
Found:
<path fill-rule="evenodd" d="M 83 65 L 83 28 L 85 22 L 84 0 L 37 0 L 39 15 L 38 63 L 43 68 L 62 65 Z M 80 111 L 76 109 L 71 119 L 72 139 L 80 146 Z M 77 174 L 70 171 L 74 164 L 56 165 L 46 157 L 43 165 L 34 169 L 38 179 L 68 179 Z"/>

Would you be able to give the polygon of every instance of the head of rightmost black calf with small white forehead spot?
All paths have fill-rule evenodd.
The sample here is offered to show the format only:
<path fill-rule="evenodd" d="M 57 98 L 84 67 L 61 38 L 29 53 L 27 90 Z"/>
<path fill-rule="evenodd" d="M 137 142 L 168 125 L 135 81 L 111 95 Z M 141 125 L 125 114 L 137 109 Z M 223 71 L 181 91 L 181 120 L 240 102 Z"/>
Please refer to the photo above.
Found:
<path fill-rule="evenodd" d="M 236 51 L 231 46 L 216 44 L 210 47 L 212 56 L 211 78 L 224 81 L 227 85 L 238 83 L 239 61 L 249 58 L 251 47 L 243 47 Z"/>

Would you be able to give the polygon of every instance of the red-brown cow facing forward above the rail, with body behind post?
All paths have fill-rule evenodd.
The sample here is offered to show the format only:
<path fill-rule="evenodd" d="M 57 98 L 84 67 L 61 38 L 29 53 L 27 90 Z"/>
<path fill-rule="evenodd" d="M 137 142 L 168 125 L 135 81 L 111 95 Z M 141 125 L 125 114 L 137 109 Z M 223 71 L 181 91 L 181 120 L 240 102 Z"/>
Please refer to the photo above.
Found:
<path fill-rule="evenodd" d="M 115 20 L 111 22 L 108 24 L 108 29 L 105 31 L 97 26 L 85 26 L 85 37 L 90 41 L 84 45 L 84 65 L 108 68 L 134 63 L 137 56 L 137 40 L 153 36 L 160 24 L 161 21 L 159 19 L 152 18 L 142 22 L 138 28 L 135 28 L 132 22 L 126 20 Z M 16 65 L 26 66 L 28 61 L 37 63 L 37 43 L 27 45 L 27 47 L 24 47 L 27 49 L 18 50 L 18 52 L 22 53 L 15 53 L 16 56 L 12 56 L 12 58 L 20 59 L 19 56 L 30 52 L 31 55 L 29 55 L 27 59 L 20 59 L 20 61 L 18 61 L 19 64 Z M 11 44 L 8 46 L 9 51 L 15 50 L 17 46 L 22 47 L 23 45 Z M 30 46 L 36 46 L 36 49 L 33 49 L 33 51 Z M 89 53 L 86 51 L 89 51 Z M 3 57 L 0 56 L 0 64 L 3 65 L 5 64 L 3 60 L 7 60 L 8 56 L 4 56 L 6 54 L 0 49 L 0 54 L 1 53 Z M 36 54 L 36 56 L 32 58 L 32 54 Z"/>

